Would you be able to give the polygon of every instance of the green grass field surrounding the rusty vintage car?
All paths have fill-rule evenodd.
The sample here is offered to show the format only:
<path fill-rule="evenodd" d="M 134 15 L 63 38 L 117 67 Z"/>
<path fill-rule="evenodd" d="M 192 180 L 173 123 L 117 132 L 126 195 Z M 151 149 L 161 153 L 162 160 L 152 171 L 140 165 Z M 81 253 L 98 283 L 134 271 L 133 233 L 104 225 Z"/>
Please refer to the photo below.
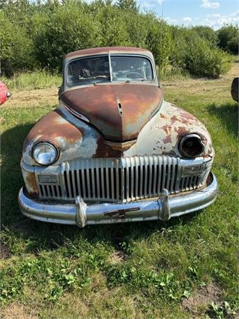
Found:
<path fill-rule="evenodd" d="M 22 143 L 57 106 L 58 79 L 40 90 L 13 85 L 1 106 L 1 318 L 238 316 L 238 106 L 230 95 L 237 74 L 234 63 L 222 79 L 162 83 L 165 99 L 211 133 L 215 204 L 169 222 L 85 229 L 19 212 Z"/>

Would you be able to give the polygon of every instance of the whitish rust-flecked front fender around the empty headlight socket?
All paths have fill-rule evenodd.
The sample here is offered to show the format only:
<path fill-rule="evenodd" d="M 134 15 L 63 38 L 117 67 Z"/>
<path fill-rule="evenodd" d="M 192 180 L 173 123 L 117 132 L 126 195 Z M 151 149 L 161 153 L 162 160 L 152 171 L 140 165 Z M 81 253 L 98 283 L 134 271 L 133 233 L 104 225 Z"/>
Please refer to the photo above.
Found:
<path fill-rule="evenodd" d="M 204 124 L 190 113 L 164 101 L 160 111 L 140 131 L 137 142 L 125 152 L 125 156 L 162 154 L 181 157 L 179 140 L 189 133 L 201 136 L 205 145 L 202 156 L 213 154 L 211 136 Z"/>

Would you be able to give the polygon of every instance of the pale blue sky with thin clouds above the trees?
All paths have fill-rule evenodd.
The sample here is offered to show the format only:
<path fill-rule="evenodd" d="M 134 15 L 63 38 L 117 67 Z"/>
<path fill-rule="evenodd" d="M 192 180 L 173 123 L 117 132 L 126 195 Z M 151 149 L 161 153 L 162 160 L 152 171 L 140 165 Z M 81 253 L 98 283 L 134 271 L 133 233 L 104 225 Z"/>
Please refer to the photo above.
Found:
<path fill-rule="evenodd" d="M 239 0 L 138 0 L 142 11 L 154 10 L 169 24 L 211 26 L 239 24 Z"/>

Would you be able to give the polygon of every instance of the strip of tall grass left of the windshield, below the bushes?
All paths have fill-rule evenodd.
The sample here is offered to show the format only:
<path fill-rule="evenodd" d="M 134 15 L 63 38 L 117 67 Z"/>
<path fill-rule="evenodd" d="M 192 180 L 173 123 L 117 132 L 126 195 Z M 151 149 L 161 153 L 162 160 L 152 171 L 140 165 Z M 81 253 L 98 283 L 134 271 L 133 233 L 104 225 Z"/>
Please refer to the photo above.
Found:
<path fill-rule="evenodd" d="M 1 81 L 8 85 L 9 90 L 35 90 L 57 87 L 61 83 L 61 76 L 46 71 L 22 72 L 10 79 L 2 77 Z"/>

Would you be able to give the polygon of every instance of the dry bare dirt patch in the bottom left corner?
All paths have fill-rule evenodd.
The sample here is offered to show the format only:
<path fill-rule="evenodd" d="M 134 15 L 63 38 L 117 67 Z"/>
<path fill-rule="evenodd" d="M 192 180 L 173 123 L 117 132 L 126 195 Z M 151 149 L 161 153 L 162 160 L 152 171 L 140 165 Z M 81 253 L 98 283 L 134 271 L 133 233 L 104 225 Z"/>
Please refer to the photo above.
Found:
<path fill-rule="evenodd" d="M 31 309 L 27 309 L 22 304 L 14 302 L 10 304 L 5 309 L 0 310 L 0 318 L 1 319 L 38 319 L 35 311 Z"/>

